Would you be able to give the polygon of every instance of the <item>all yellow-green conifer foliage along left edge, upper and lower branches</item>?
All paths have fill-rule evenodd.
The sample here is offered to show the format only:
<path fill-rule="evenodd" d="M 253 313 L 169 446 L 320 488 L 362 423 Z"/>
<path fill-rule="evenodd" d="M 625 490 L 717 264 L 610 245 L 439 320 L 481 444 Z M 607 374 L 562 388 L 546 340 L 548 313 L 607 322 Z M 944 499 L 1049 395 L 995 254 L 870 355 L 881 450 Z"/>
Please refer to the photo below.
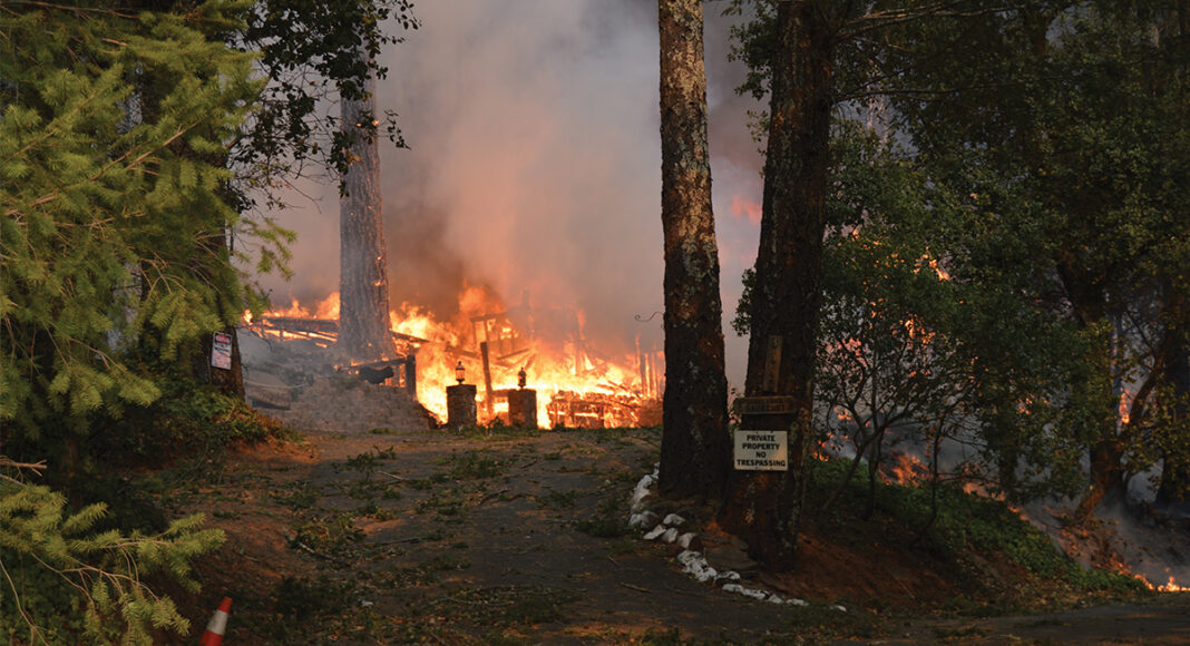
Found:
<path fill-rule="evenodd" d="M 246 8 L 14 1 L 0 12 L 0 446 L 48 458 L 73 500 L 105 458 L 177 439 L 129 422 L 177 403 L 161 399 L 168 377 L 187 371 L 203 335 L 261 302 L 237 266 L 268 269 L 286 238 L 242 218 L 227 190 L 226 146 L 261 88 L 253 56 L 221 39 Z M 233 251 L 231 233 L 249 233 L 252 251 Z M 201 440 L 263 428 L 242 402 L 209 393 L 181 407 L 170 421 L 199 409 L 176 431 L 201 429 Z M 69 513 L 45 487 L 2 487 L 10 635 L 148 642 L 150 631 L 186 632 L 140 576 L 193 585 L 189 563 L 221 540 L 200 518 L 123 535 L 99 528 L 102 506 Z"/>

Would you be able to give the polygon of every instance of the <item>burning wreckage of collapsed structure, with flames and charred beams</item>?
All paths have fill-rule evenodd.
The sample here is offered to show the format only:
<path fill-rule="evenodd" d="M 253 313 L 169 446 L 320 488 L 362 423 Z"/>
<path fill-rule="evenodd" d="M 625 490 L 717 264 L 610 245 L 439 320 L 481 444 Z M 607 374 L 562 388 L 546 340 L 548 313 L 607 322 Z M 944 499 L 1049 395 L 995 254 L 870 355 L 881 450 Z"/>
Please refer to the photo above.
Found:
<path fill-rule="evenodd" d="M 527 294 L 520 305 L 505 307 L 486 290 L 466 288 L 458 301 L 459 313 L 449 321 L 407 303 L 390 312 L 393 358 L 340 359 L 336 370 L 406 389 L 439 422 L 447 418 L 446 387 L 462 378 L 478 385 L 478 424 L 524 418 L 511 415 L 509 407 L 526 388 L 536 395 L 536 420 L 551 427 L 660 424 L 662 351 L 638 340 L 635 352 L 622 359 L 602 355 L 584 338 L 578 311 L 534 308 Z M 294 302 L 258 319 L 245 316 L 244 328 L 270 343 L 330 351 L 339 333 L 337 315 L 338 296 L 332 294 L 312 309 Z M 262 395 L 267 387 L 257 385 L 253 394 L 263 397 L 257 401 L 268 406 L 283 399 Z"/>

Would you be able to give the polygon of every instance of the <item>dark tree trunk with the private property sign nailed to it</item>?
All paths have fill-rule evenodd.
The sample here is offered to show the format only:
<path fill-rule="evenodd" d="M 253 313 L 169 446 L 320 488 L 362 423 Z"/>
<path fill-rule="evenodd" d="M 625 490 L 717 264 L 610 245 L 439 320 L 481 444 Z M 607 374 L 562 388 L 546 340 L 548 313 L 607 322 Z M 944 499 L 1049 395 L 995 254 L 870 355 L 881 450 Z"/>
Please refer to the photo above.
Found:
<path fill-rule="evenodd" d="M 724 527 L 753 558 L 788 570 L 796 556 L 813 438 L 814 353 L 821 291 L 831 128 L 828 0 L 779 2 L 772 59 L 760 247 L 752 295 L 747 395 L 791 396 L 789 471 L 737 471 Z M 772 349 L 779 347 L 774 353 Z M 766 378 L 766 365 L 769 366 Z"/>

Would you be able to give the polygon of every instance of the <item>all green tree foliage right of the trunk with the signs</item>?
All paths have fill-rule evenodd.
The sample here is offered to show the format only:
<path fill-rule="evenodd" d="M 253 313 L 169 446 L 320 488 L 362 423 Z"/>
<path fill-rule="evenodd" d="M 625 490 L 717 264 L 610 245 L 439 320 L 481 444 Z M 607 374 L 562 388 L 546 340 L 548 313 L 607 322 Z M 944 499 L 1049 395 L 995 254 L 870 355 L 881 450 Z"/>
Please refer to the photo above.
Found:
<path fill-rule="evenodd" d="M 775 5 L 729 11 L 745 7 L 740 92 L 763 96 Z M 832 52 L 820 410 L 865 384 L 868 410 L 852 416 L 950 409 L 1013 497 L 1085 491 L 1096 445 L 1116 483 L 1184 463 L 1171 365 L 1190 347 L 1185 7 L 846 11 Z M 931 284 L 922 263 L 946 280 Z"/>

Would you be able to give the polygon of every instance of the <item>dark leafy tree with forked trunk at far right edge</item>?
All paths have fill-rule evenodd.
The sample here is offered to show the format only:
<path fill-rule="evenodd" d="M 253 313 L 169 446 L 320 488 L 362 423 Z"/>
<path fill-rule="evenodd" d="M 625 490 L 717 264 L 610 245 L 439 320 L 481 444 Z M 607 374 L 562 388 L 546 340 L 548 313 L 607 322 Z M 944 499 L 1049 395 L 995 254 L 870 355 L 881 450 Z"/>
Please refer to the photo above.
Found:
<path fill-rule="evenodd" d="M 1016 258 L 1019 293 L 1076 330 L 1084 370 L 1048 403 L 1090 447 L 1083 516 L 1122 496 L 1154 459 L 1146 445 L 1176 432 L 1152 422 L 1176 403 L 1159 384 L 1184 343 L 1185 19 L 1177 2 L 1038 2 L 914 25 L 887 59 L 904 70 L 892 105 L 921 163 L 970 195 L 989 231 L 1020 243 L 1015 253 L 970 247 L 964 271 L 978 278 Z M 944 33 L 985 54 L 944 58 Z M 979 255 L 989 250 L 1007 257 Z"/>

